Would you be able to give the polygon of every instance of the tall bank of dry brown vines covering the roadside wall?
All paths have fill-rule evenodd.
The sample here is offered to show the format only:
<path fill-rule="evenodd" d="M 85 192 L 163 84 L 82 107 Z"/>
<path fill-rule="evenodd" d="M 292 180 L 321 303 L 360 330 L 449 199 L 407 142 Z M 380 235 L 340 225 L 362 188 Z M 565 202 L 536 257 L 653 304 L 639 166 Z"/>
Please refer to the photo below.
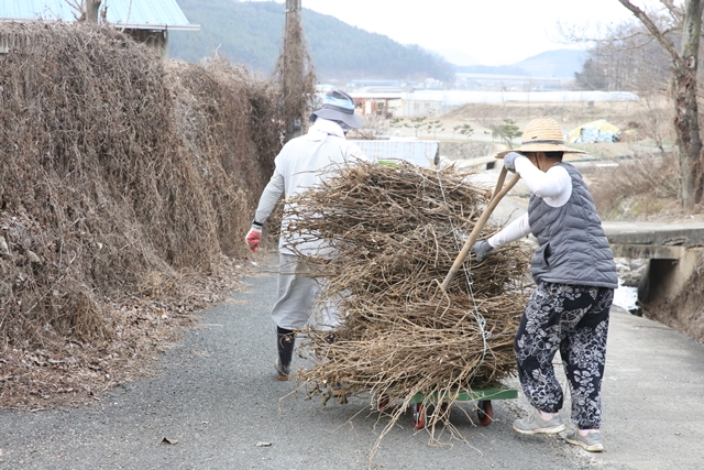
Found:
<path fill-rule="evenodd" d="M 237 285 L 278 86 L 109 28 L 0 37 L 0 405 L 78 403 Z"/>

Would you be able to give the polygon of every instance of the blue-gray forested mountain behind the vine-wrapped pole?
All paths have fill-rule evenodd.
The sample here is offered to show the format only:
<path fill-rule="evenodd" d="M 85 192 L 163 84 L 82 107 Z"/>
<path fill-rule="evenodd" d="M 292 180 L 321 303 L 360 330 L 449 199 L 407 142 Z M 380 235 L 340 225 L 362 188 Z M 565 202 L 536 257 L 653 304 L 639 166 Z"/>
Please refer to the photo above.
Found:
<path fill-rule="evenodd" d="M 197 63 L 216 51 L 253 72 L 268 75 L 278 57 L 285 22 L 285 4 L 274 1 L 177 0 L 201 30 L 172 31 L 169 55 Z M 454 66 L 439 54 L 418 45 L 403 45 L 333 17 L 302 9 L 302 28 L 316 75 L 337 79 L 436 78 L 453 80 Z"/>

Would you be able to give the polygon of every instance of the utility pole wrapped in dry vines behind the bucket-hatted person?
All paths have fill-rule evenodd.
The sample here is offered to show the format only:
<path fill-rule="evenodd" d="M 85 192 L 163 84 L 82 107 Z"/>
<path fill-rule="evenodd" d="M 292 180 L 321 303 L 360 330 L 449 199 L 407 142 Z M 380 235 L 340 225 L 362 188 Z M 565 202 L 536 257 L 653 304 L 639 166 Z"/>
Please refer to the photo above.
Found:
<path fill-rule="evenodd" d="M 304 58 L 306 55 L 300 21 L 301 0 L 286 0 L 286 29 L 284 33 L 284 116 L 285 142 L 301 134 L 300 102 L 304 90 Z"/>

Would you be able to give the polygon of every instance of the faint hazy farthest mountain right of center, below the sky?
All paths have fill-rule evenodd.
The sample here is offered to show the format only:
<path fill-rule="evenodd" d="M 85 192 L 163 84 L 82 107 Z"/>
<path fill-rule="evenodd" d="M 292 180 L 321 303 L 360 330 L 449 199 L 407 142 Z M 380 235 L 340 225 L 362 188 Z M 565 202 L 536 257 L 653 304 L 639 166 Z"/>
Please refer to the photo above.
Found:
<path fill-rule="evenodd" d="M 582 72 L 586 59 L 584 51 L 562 48 L 547 51 L 514 65 L 473 65 L 458 67 L 458 72 L 469 74 L 525 75 L 540 78 L 573 78 L 575 72 Z"/>

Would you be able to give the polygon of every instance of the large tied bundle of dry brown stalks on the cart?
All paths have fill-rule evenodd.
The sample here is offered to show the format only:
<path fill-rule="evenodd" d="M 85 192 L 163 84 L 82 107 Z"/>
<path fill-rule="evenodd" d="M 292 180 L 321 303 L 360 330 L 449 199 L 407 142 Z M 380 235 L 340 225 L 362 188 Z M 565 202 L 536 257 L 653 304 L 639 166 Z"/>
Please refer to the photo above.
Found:
<path fill-rule="evenodd" d="M 333 341 L 322 329 L 304 332 L 301 354 L 315 367 L 297 380 L 311 394 L 342 384 L 346 394 L 371 392 L 372 406 L 382 396 L 400 403 L 388 429 L 417 393 L 426 405 L 436 393 L 452 403 L 459 391 L 514 373 L 527 253 L 508 245 L 482 263 L 472 256 L 447 292 L 440 287 L 488 196 L 453 167 L 365 163 L 339 168 L 294 200 L 298 222 L 289 229 L 326 240 L 336 253 L 304 258 L 327 278 L 320 305 L 337 305 L 343 317 Z M 429 425 L 447 423 L 448 409 Z"/>

